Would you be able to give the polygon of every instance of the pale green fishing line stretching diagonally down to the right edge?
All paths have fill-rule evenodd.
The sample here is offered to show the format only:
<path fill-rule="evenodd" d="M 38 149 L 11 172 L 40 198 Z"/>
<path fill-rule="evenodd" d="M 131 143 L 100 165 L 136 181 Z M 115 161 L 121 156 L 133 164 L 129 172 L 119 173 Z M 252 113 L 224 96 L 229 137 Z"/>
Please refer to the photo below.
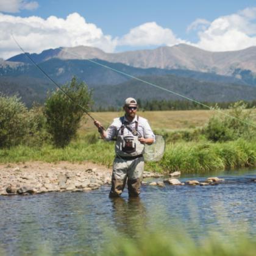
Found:
<path fill-rule="evenodd" d="M 79 56 L 78 54 L 74 54 L 74 52 L 66 51 L 66 49 L 64 49 L 64 48 L 61 48 L 61 49 L 62 49 L 62 51 L 68 52 L 68 54 L 71 54 L 71 55 L 74 55 L 74 56 L 76 56 L 76 57 L 79 57 L 79 59 L 80 59 L 80 56 Z M 247 124 L 247 125 L 249 125 L 249 126 L 252 126 L 252 127 L 256 128 L 256 125 L 255 125 L 255 124 L 246 122 L 246 121 L 244 121 L 244 120 L 242 120 L 242 119 L 240 119 L 240 118 L 236 118 L 235 116 L 232 116 L 232 115 L 230 115 L 229 113 L 225 113 L 225 112 L 222 112 L 221 110 L 218 110 L 218 109 L 216 109 L 216 108 L 212 108 L 212 107 L 210 107 L 210 106 L 208 106 L 208 105 L 206 105 L 206 104 L 204 104 L 204 103 L 202 103 L 202 102 L 196 101 L 195 99 L 188 98 L 188 97 L 186 97 L 186 96 L 184 96 L 184 95 L 182 95 L 182 94 L 180 94 L 180 93 L 176 93 L 175 91 L 171 91 L 171 90 L 168 90 L 168 89 L 166 89 L 166 88 L 160 87 L 159 85 L 153 84 L 153 83 L 148 82 L 148 81 L 146 81 L 146 80 L 143 80 L 143 79 L 140 79 L 140 78 L 138 78 L 138 77 L 132 76 L 132 75 L 130 75 L 130 74 L 124 73 L 123 71 L 120 71 L 120 70 L 118 70 L 118 69 L 111 68 L 110 66 L 107 66 L 107 65 L 104 65 L 104 64 L 102 64 L 102 63 L 96 62 L 96 61 L 93 60 L 93 59 L 86 59 L 86 60 L 88 60 L 89 62 L 94 63 L 94 64 L 96 64 L 96 65 L 102 66 L 102 67 L 107 68 L 107 69 L 110 69 L 110 70 L 112 70 L 112 71 L 115 71 L 116 73 L 123 74 L 124 76 L 130 77 L 130 78 L 135 79 L 135 80 L 138 80 L 138 81 L 140 81 L 140 82 L 143 82 L 144 84 L 151 85 L 152 87 L 158 88 L 158 89 L 163 90 L 163 91 L 168 91 L 169 93 L 175 94 L 176 96 L 179 96 L 179 97 L 181 97 L 181 98 L 187 99 L 188 101 L 195 102 L 196 104 L 202 105 L 203 107 L 209 108 L 210 110 L 214 110 L 215 112 L 221 113 L 222 115 L 229 116 L 230 118 L 233 118 L 233 119 L 235 119 L 235 120 L 237 120 L 237 121 L 240 121 L 241 123 L 244 123 L 244 124 Z"/>

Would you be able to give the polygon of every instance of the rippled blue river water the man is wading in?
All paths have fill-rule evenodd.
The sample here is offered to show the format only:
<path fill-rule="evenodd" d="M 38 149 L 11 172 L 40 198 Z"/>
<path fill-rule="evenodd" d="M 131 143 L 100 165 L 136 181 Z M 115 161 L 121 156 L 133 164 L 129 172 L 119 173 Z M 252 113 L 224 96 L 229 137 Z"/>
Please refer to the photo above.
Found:
<path fill-rule="evenodd" d="M 109 199 L 110 187 L 90 192 L 0 196 L 0 254 L 97 254 L 110 230 L 136 236 L 138 228 L 185 227 L 200 238 L 207 230 L 256 235 L 255 169 L 182 176 L 215 186 L 143 185 L 138 199 Z M 163 180 L 163 179 L 160 179 Z"/>

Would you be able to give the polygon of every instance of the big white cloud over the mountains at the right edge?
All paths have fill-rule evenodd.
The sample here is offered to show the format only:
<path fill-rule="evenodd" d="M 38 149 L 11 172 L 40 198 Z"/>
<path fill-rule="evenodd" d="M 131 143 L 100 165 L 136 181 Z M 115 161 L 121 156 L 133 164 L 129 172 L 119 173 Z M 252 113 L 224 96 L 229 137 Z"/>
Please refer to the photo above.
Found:
<path fill-rule="evenodd" d="M 199 41 L 193 45 L 208 51 L 236 51 L 256 46 L 255 18 L 256 8 L 221 16 L 198 32 Z"/>

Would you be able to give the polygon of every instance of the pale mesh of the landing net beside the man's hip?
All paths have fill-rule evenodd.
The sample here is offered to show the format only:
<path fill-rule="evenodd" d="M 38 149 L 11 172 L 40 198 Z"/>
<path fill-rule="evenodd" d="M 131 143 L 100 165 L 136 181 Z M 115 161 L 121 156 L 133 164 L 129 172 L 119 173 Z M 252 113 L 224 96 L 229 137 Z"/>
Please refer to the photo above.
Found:
<path fill-rule="evenodd" d="M 162 135 L 155 135 L 155 143 L 145 144 L 144 160 L 147 162 L 160 161 L 165 152 L 165 139 Z"/>

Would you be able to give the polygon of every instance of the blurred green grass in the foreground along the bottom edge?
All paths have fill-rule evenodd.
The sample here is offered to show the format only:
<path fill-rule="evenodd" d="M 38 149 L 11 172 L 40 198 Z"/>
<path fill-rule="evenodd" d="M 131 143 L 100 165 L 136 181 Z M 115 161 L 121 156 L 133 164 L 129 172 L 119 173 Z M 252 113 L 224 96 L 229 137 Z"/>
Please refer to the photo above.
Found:
<path fill-rule="evenodd" d="M 223 239 L 224 238 L 224 239 Z M 129 238 L 118 235 L 115 240 L 105 246 L 101 255 L 144 256 L 144 255 L 179 255 L 179 256 L 211 256 L 255 255 L 256 240 L 244 235 L 238 238 L 223 237 L 219 234 L 207 235 L 200 241 L 194 241 L 189 235 L 179 230 L 170 232 L 144 232 L 138 233 L 138 238 Z"/>

